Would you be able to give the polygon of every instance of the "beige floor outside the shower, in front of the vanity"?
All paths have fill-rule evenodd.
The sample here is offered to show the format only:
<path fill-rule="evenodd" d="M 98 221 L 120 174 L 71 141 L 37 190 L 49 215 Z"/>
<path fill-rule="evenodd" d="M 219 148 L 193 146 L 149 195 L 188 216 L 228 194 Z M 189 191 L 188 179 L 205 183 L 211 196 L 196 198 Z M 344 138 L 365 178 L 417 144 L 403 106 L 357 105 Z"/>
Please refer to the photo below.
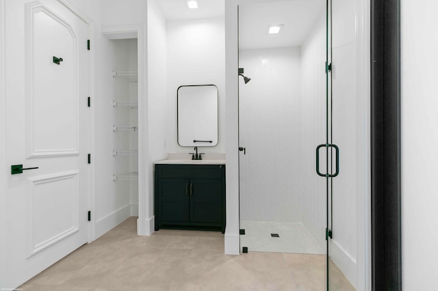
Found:
<path fill-rule="evenodd" d="M 136 217 L 83 245 L 20 289 L 324 290 L 324 255 L 250 252 L 224 255 L 220 232 L 159 230 L 136 235 Z M 342 273 L 331 290 L 354 290 Z"/>

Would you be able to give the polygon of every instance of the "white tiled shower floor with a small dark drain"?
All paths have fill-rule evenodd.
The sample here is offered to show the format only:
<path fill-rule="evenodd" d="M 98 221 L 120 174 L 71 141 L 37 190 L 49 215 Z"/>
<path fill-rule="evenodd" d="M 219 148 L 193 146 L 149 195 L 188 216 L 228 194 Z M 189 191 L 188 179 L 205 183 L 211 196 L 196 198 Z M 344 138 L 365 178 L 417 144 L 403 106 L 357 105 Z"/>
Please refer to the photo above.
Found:
<path fill-rule="evenodd" d="M 245 235 L 240 236 L 240 245 L 248 247 L 249 251 L 325 253 L 302 223 L 240 221 L 240 228 L 245 230 Z M 271 234 L 279 234 L 279 237 L 273 238 Z"/>

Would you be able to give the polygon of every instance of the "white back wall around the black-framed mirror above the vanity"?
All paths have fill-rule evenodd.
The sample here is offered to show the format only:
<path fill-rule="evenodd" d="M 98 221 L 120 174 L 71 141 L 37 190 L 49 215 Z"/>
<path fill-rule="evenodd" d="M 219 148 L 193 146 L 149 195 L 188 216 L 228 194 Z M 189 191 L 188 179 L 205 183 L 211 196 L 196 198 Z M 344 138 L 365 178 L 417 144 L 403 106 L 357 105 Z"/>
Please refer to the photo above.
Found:
<path fill-rule="evenodd" d="M 177 141 L 177 89 L 181 85 L 218 87 L 218 145 L 200 152 L 225 152 L 225 34 L 224 18 L 167 22 L 166 147 L 168 152 L 192 152 Z M 164 65 L 164 64 L 163 64 Z M 190 157 L 188 155 L 188 157 Z"/>

